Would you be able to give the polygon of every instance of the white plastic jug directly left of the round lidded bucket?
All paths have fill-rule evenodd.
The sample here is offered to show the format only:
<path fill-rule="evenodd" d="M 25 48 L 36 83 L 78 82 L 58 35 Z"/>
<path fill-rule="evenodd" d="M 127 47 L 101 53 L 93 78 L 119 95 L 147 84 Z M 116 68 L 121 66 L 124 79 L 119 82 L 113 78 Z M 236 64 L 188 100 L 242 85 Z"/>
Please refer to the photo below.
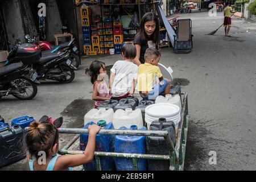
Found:
<path fill-rule="evenodd" d="M 128 108 L 126 110 L 119 109 L 115 111 L 113 116 L 113 125 L 114 129 L 119 129 L 121 127 L 130 128 L 133 125 L 136 125 L 138 128 L 143 127 L 143 119 L 141 109 Z"/>

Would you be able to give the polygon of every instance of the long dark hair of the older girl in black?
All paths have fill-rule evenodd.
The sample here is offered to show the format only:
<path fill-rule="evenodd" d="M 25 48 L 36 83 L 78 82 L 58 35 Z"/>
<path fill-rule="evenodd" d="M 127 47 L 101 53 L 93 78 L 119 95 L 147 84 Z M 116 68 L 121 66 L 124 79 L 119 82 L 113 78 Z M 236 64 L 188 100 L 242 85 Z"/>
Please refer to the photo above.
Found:
<path fill-rule="evenodd" d="M 147 34 L 144 30 L 144 26 L 146 22 L 150 22 L 150 21 L 154 21 L 156 24 L 155 27 L 155 32 L 153 34 L 153 38 L 154 38 L 154 43 L 157 45 L 159 43 L 159 36 L 160 36 L 160 29 L 159 29 L 159 19 L 158 19 L 158 15 L 152 13 L 152 12 L 148 12 L 146 14 L 144 14 L 144 16 L 142 17 L 141 20 L 141 24 L 139 26 L 139 36 L 141 37 L 141 40 L 143 43 L 146 43 L 148 38 L 147 38 Z"/>

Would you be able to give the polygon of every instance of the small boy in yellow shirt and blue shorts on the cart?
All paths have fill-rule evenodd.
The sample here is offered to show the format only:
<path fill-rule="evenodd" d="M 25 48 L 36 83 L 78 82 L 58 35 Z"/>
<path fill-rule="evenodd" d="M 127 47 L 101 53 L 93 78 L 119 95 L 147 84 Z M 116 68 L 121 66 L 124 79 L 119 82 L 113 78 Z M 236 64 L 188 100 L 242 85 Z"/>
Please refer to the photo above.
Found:
<path fill-rule="evenodd" d="M 157 49 L 148 48 L 144 56 L 146 63 L 139 66 L 138 91 L 144 100 L 155 100 L 163 92 L 170 94 L 171 82 L 164 79 L 158 67 L 160 58 Z"/>

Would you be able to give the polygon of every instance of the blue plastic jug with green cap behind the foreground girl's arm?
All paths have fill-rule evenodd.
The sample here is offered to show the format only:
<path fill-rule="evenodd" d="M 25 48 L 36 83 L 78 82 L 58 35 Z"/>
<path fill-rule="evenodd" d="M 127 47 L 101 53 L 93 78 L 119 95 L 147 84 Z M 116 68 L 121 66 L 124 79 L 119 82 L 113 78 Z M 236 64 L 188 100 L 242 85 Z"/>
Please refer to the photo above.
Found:
<path fill-rule="evenodd" d="M 88 129 L 90 125 L 94 125 L 96 123 L 89 122 L 84 126 L 84 129 Z M 98 125 L 102 127 L 104 130 L 113 130 L 113 123 L 108 123 L 106 125 L 106 121 L 99 121 Z M 89 135 L 81 134 L 80 135 L 80 150 L 84 151 L 87 143 L 88 143 Z M 113 152 L 113 136 L 112 135 L 96 135 L 96 150 L 97 152 Z M 102 171 L 113 171 L 114 169 L 114 160 L 110 157 L 100 157 L 101 169 Z M 84 164 L 85 171 L 96 171 L 96 160 L 93 162 Z"/>

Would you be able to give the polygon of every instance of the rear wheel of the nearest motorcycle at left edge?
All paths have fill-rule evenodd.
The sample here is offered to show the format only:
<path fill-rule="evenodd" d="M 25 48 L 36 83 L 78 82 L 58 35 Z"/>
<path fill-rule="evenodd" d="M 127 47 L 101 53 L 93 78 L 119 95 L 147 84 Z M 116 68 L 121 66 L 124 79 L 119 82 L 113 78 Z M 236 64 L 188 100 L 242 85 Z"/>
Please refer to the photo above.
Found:
<path fill-rule="evenodd" d="M 12 85 L 17 87 L 18 91 L 23 90 L 24 92 L 20 94 L 13 94 L 13 96 L 18 98 L 19 100 L 22 100 L 22 101 L 31 100 L 38 93 L 38 86 L 35 84 L 35 82 L 32 82 L 28 78 L 21 77 L 21 78 L 15 79 L 11 83 Z"/>

